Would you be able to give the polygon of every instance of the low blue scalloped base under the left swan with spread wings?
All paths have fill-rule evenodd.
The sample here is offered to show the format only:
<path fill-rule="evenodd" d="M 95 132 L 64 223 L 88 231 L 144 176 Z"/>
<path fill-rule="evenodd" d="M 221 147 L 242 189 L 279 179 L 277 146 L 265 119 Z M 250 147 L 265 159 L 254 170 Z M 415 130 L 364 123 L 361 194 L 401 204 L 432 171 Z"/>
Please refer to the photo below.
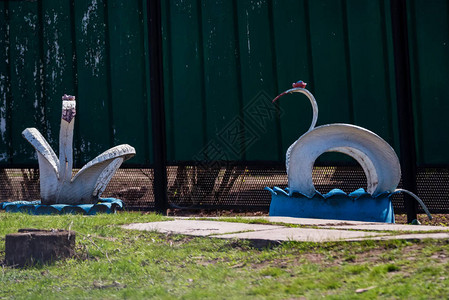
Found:
<path fill-rule="evenodd" d="M 6 212 L 25 212 L 31 215 L 59 215 L 59 214 L 83 214 L 95 215 L 97 213 L 115 213 L 123 209 L 123 202 L 116 198 L 100 198 L 96 204 L 53 204 L 41 205 L 36 201 L 14 201 L 0 203 L 0 209 Z"/>

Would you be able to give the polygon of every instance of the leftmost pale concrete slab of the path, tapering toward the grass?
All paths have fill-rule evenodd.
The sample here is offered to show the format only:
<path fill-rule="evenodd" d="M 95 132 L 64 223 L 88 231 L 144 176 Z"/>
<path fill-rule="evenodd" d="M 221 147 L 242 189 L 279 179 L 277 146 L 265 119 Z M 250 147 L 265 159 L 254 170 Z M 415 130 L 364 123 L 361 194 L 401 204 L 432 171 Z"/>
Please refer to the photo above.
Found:
<path fill-rule="evenodd" d="M 202 220 L 179 220 L 152 222 L 152 223 L 134 223 L 124 225 L 125 229 L 158 231 L 162 233 L 185 234 L 195 236 L 210 236 L 217 234 L 237 233 L 242 231 L 269 231 L 284 228 L 277 225 L 263 224 L 242 224 L 219 221 Z"/>

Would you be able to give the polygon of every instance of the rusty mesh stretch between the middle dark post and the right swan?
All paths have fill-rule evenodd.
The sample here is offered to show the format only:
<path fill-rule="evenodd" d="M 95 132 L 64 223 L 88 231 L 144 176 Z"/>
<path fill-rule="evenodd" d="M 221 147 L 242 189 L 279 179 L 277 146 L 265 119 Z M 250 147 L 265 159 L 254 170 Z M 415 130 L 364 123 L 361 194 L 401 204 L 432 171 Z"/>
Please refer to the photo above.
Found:
<path fill-rule="evenodd" d="M 285 169 L 242 165 L 173 166 L 167 177 L 173 207 L 267 209 L 271 195 L 264 187 L 287 183 Z"/>

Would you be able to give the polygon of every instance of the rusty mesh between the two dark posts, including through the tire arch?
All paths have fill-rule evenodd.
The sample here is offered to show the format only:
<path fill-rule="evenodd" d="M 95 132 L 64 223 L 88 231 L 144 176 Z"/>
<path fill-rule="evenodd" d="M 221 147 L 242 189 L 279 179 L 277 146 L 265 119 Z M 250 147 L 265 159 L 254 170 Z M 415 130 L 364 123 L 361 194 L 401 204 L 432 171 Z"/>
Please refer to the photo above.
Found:
<path fill-rule="evenodd" d="M 271 194 L 264 188 L 287 187 L 283 165 L 171 166 L 167 176 L 169 201 L 175 208 L 268 210 Z M 366 189 L 366 176 L 359 165 L 315 166 L 312 178 L 315 188 L 323 194 L 334 188 L 346 193 Z M 394 196 L 393 205 L 398 212 L 404 212 L 403 196 Z"/>

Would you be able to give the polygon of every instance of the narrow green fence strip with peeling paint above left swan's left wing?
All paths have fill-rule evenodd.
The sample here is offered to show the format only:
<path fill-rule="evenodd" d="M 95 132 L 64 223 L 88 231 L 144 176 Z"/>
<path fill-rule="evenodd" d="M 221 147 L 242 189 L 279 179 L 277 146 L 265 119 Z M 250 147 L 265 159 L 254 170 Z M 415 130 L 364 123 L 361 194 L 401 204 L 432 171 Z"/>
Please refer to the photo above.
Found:
<path fill-rule="evenodd" d="M 10 1 L 11 144 L 12 163 L 34 163 L 35 151 L 22 138 L 27 127 L 45 131 L 43 61 L 39 2 Z"/>

